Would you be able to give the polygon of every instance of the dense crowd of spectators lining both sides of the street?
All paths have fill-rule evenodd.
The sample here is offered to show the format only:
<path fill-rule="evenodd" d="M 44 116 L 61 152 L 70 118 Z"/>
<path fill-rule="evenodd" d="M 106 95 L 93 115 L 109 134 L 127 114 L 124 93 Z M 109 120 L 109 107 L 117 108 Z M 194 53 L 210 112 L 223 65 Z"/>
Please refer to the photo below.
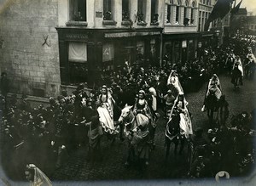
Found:
<path fill-rule="evenodd" d="M 184 64 L 166 61 L 161 67 L 150 65 L 142 67 L 126 63 L 121 69 L 103 71 L 99 82 L 100 85 L 105 84 L 110 88 L 113 99 L 120 108 L 125 104 L 134 104 L 136 94 L 140 89 L 149 95 L 148 89 L 154 87 L 157 92 L 159 109 L 162 109 L 166 103 L 165 95 L 168 91 L 166 82 L 171 70 L 177 71 L 185 93 L 196 92 L 213 73 L 226 72 L 225 63 L 230 53 L 245 56 L 248 45 L 252 45 L 252 42 L 237 38 L 231 39 L 222 47 L 204 48 L 203 54 L 198 59 Z M 69 152 L 88 143 L 88 138 L 84 135 L 88 128 L 84 127 L 83 121 L 90 121 L 90 110 L 96 110 L 100 93 L 100 89 L 93 89 L 87 93 L 86 84 L 81 83 L 71 95 L 67 95 L 64 91 L 57 99 L 50 98 L 49 105 L 40 104 L 36 108 L 31 107 L 26 95 L 20 100 L 13 95 L 8 104 L 4 104 L 5 106 L 1 108 L 3 111 L 2 161 L 7 162 L 3 162 L 7 173 L 20 175 L 20 170 L 30 162 L 45 172 L 53 171 L 61 166 L 61 162 L 67 158 Z M 6 102 L 4 97 L 1 101 Z M 243 123 L 245 121 L 242 118 L 238 124 L 233 124 L 230 128 L 212 128 L 208 132 L 211 141 L 209 146 L 212 149 L 207 152 L 211 152 L 211 155 L 208 159 L 202 158 L 193 162 L 191 176 L 209 175 L 207 173 L 209 170 L 205 171 L 208 167 L 217 170 L 225 168 L 225 165 L 231 167 L 239 164 L 241 166 L 236 170 L 247 168 L 246 163 L 249 161 L 247 163 L 249 165 L 253 160 L 250 159 L 253 152 L 248 146 L 250 143 L 242 145 L 245 143 L 244 140 L 248 141 L 251 138 L 251 135 L 247 133 L 247 123 L 244 125 Z M 227 138 L 230 138 L 230 141 Z M 235 141 L 234 138 L 236 138 Z M 226 146 L 232 150 L 226 150 Z M 249 149 L 242 149 L 244 146 Z M 230 155 L 221 151 L 223 150 L 221 148 L 230 155 L 236 155 L 236 161 L 239 163 L 231 165 L 228 158 Z M 44 163 L 46 161 L 47 164 Z M 218 161 L 224 163 L 217 163 Z M 207 166 L 207 163 L 213 162 L 216 162 L 214 166 Z M 232 170 L 235 170 L 235 167 L 230 169 L 230 172 Z M 239 174 L 239 172 L 236 173 Z"/>

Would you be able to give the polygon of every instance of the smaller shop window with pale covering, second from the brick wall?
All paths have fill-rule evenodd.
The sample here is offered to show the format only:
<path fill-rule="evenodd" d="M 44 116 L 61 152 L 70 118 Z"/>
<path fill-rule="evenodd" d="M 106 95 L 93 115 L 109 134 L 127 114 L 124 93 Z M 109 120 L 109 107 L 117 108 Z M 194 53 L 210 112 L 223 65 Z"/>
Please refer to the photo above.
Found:
<path fill-rule="evenodd" d="M 103 69 L 113 69 L 114 65 L 114 45 L 111 42 L 102 46 L 102 67 Z"/>

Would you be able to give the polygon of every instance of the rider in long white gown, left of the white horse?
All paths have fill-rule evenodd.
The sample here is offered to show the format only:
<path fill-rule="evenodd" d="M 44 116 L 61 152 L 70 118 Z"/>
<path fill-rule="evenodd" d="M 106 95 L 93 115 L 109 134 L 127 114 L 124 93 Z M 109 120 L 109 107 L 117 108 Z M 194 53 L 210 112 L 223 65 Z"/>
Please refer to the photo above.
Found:
<path fill-rule="evenodd" d="M 118 130 L 113 125 L 113 104 L 114 100 L 111 93 L 108 92 L 108 87 L 102 86 L 102 94 L 99 96 L 100 106 L 97 111 L 100 116 L 100 121 L 105 132 L 108 134 L 116 134 Z"/>

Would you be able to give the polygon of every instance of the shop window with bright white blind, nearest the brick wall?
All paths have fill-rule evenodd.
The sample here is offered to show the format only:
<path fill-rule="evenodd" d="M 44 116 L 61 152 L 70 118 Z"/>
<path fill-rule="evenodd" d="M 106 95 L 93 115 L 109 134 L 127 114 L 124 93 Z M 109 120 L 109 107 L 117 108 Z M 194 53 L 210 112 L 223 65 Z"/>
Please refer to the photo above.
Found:
<path fill-rule="evenodd" d="M 87 45 L 86 42 L 69 42 L 68 44 L 69 82 L 77 84 L 87 82 Z"/>

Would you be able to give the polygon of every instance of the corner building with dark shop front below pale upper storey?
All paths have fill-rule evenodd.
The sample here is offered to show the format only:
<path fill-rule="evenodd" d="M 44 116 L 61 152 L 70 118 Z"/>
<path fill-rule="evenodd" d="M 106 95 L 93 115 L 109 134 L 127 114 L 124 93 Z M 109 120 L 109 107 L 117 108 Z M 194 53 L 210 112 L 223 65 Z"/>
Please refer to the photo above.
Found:
<path fill-rule="evenodd" d="M 161 0 L 60 0 L 61 84 L 97 85 L 102 70 L 158 65 Z"/>

